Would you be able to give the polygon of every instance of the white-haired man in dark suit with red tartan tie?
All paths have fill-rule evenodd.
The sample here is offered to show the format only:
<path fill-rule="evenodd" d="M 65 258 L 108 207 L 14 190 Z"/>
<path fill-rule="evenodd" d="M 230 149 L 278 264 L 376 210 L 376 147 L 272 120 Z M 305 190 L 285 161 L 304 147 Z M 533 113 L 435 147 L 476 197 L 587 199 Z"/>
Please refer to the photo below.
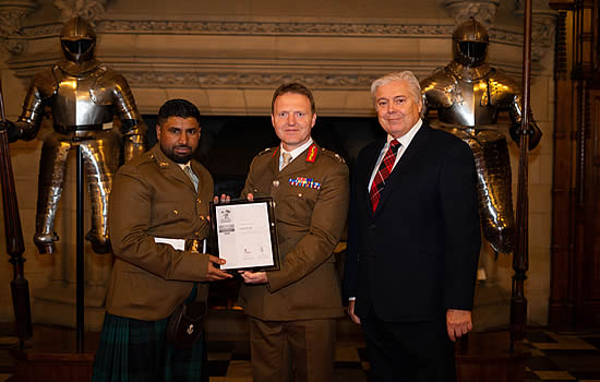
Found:
<path fill-rule="evenodd" d="M 452 342 L 472 329 L 480 249 L 469 146 L 420 118 L 419 81 L 387 74 L 371 93 L 387 139 L 353 175 L 348 313 L 362 325 L 375 381 L 454 381 Z"/>

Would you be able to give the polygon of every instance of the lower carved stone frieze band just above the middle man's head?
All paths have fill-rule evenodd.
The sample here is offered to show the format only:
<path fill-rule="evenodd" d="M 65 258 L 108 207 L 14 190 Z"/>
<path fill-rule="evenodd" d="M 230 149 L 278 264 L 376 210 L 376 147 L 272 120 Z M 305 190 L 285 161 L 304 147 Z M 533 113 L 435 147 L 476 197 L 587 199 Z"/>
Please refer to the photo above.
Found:
<path fill-rule="evenodd" d="M 175 87 L 274 87 L 286 82 L 302 82 L 311 88 L 368 88 L 382 73 L 372 75 L 314 73 L 197 73 L 197 72 L 121 72 L 133 86 Z"/>

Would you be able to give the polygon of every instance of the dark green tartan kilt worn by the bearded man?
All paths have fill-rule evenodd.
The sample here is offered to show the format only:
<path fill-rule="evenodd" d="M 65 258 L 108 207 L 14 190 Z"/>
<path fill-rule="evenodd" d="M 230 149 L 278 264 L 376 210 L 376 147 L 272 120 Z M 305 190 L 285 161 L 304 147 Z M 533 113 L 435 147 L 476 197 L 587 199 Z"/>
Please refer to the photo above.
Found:
<path fill-rule="evenodd" d="M 168 321 L 169 318 L 142 321 L 106 313 L 92 381 L 207 382 L 204 332 L 191 348 L 176 349 L 165 339 Z"/>

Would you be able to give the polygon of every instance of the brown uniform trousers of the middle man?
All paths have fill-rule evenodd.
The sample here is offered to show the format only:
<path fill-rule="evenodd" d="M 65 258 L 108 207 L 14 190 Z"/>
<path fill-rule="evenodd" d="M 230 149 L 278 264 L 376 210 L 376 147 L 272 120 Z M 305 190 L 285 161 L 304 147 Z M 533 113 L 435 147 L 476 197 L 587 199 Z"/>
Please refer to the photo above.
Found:
<path fill-rule="evenodd" d="M 334 319 L 262 321 L 250 318 L 254 382 L 331 382 Z"/>

